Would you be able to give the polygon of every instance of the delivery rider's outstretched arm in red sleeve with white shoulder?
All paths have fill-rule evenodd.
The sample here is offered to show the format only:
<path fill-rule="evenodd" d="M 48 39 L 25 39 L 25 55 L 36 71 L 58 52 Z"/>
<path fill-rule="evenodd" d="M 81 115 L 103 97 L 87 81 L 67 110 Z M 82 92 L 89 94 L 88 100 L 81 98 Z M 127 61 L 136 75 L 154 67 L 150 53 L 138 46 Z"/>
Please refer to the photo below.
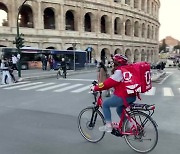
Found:
<path fill-rule="evenodd" d="M 113 75 L 107 78 L 103 83 L 99 83 L 94 87 L 95 91 L 106 90 L 115 87 L 119 82 L 123 80 L 121 70 L 116 70 Z"/>

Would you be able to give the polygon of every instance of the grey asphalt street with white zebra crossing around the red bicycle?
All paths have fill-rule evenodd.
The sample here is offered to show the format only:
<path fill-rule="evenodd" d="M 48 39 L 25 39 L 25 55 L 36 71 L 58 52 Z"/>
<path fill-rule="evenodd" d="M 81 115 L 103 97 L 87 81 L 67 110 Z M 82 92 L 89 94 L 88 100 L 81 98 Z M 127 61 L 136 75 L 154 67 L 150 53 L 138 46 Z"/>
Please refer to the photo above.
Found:
<path fill-rule="evenodd" d="M 180 150 L 180 71 L 166 71 L 164 78 L 153 83 L 153 90 L 141 95 L 141 102 L 137 100 L 156 105 L 153 118 L 158 124 L 159 141 L 152 154 L 176 154 Z M 101 142 L 92 144 L 80 135 L 77 117 L 93 101 L 88 87 L 95 78 L 96 74 L 89 72 L 68 79 L 1 86 L 1 154 L 134 154 L 123 138 L 106 134 Z M 118 120 L 114 109 L 112 116 Z"/>

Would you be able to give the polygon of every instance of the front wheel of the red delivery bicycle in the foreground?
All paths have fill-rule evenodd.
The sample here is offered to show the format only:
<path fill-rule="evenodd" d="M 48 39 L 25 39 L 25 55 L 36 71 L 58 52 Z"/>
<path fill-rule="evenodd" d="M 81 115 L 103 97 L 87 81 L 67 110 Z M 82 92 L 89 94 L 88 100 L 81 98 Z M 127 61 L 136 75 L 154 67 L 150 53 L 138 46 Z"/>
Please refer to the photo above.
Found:
<path fill-rule="evenodd" d="M 105 135 L 99 127 L 105 125 L 102 113 L 94 107 L 83 109 L 78 116 L 78 128 L 81 135 L 89 142 L 99 142 Z"/>

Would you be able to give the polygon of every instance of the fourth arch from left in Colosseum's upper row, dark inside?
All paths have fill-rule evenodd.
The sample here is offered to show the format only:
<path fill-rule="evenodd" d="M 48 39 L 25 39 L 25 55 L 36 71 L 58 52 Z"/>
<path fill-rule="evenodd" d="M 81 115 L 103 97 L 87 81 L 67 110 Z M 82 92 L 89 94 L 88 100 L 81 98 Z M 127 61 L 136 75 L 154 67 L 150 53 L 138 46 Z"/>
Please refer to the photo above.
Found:
<path fill-rule="evenodd" d="M 67 11 L 66 12 L 66 30 L 75 30 L 75 24 L 74 24 L 74 14 L 73 11 Z"/>

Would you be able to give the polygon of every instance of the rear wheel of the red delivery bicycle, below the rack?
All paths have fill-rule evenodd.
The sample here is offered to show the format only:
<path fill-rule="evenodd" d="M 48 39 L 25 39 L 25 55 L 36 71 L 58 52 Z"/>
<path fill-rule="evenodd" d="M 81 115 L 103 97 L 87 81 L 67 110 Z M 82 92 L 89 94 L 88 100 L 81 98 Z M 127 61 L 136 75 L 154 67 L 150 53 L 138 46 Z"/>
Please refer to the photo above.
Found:
<path fill-rule="evenodd" d="M 132 113 L 131 118 L 138 128 L 138 134 L 125 135 L 125 141 L 136 152 L 150 152 L 155 148 L 158 142 L 158 130 L 156 123 L 149 115 L 143 112 Z M 127 132 L 131 126 L 132 123 L 127 119 L 124 123 L 123 131 Z"/>

